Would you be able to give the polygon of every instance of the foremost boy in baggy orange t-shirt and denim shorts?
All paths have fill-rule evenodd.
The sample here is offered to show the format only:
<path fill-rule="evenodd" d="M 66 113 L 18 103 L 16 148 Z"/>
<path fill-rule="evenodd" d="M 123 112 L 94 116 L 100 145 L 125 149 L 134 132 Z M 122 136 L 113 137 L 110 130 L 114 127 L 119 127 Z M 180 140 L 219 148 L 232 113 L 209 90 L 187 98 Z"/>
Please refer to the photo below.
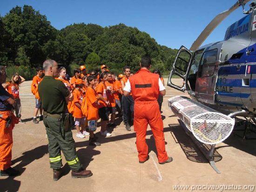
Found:
<path fill-rule="evenodd" d="M 96 141 L 96 137 L 94 137 L 94 132 L 97 129 L 97 120 L 99 119 L 98 108 L 99 108 L 99 100 L 96 91 L 94 90 L 94 86 L 96 83 L 96 77 L 88 76 L 88 89 L 85 94 L 87 114 L 86 119 L 88 119 L 88 132 L 90 133 L 89 145 L 90 146 L 101 146 L 99 142 Z"/>

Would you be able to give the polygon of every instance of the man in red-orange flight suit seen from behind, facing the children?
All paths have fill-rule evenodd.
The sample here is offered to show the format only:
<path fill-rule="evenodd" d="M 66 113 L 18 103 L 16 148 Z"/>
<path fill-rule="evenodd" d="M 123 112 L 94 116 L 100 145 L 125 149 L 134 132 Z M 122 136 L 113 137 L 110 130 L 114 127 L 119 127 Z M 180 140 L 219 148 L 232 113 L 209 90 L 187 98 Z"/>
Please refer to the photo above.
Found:
<path fill-rule="evenodd" d="M 141 58 L 141 69 L 130 77 L 123 88 L 124 96 L 132 93 L 135 100 L 134 106 L 134 130 L 136 132 L 136 146 L 139 152 L 139 163 L 149 159 L 148 145 L 146 144 L 146 132 L 148 124 L 155 138 L 157 158 L 159 164 L 171 162 L 172 157 L 167 156 L 163 134 L 163 122 L 157 102 L 159 93 L 165 95 L 165 88 L 159 75 L 150 73 L 151 60 L 144 56 Z"/>

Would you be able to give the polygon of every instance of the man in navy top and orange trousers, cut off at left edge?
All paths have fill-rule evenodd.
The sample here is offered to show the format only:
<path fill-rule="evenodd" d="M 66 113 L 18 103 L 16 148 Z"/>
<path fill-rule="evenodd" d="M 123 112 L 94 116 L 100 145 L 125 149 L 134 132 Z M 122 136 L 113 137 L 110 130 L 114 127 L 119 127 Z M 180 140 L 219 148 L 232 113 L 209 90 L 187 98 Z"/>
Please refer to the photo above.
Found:
<path fill-rule="evenodd" d="M 0 176 L 16 176 L 20 172 L 11 167 L 13 127 L 19 122 L 12 112 L 15 100 L 4 89 L 5 66 L 0 66 Z"/>

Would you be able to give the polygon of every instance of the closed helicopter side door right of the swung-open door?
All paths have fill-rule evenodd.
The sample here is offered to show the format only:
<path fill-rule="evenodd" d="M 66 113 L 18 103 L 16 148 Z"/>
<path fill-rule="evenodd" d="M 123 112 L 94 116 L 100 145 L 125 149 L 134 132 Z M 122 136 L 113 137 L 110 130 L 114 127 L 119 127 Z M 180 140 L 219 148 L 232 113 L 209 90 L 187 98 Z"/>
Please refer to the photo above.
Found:
<path fill-rule="evenodd" d="M 203 53 L 195 84 L 195 95 L 198 100 L 209 104 L 214 104 L 216 74 L 220 64 L 217 60 L 218 55 L 220 53 L 217 48 Z"/>

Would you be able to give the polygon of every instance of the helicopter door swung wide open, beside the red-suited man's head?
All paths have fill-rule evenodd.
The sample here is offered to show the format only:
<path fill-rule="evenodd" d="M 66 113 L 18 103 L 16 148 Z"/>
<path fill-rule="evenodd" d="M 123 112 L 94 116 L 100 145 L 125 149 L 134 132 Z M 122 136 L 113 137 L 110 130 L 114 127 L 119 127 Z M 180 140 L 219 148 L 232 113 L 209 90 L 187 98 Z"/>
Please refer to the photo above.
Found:
<path fill-rule="evenodd" d="M 168 86 L 182 92 L 186 91 L 186 82 L 191 58 L 192 53 L 185 46 L 181 46 L 168 78 Z"/>

